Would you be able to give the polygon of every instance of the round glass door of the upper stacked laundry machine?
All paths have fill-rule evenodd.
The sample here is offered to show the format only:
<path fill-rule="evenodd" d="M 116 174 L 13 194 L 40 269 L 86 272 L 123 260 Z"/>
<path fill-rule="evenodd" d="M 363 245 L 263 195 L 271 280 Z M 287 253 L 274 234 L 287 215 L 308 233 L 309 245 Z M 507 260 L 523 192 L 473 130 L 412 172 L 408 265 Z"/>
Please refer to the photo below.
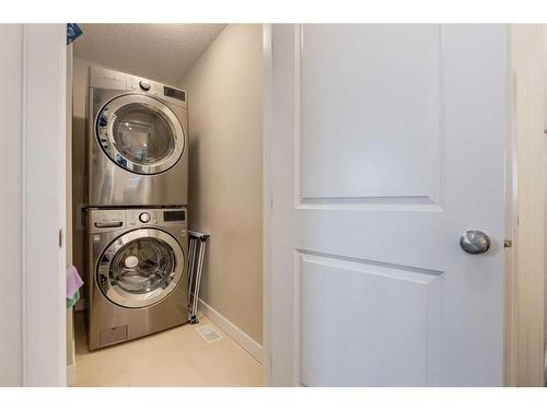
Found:
<path fill-rule="evenodd" d="M 162 102 L 128 94 L 107 103 L 96 118 L 97 139 L 108 157 L 137 174 L 158 174 L 184 152 L 183 127 Z"/>

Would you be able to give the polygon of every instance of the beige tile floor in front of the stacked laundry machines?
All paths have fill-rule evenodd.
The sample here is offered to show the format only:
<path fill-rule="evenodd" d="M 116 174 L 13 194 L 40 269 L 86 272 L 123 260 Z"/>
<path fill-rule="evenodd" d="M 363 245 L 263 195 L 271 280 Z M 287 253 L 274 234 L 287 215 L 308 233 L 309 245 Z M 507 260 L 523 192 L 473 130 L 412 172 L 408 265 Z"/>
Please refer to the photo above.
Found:
<path fill-rule="evenodd" d="M 222 339 L 205 341 L 196 331 L 203 325 L 211 325 Z M 261 386 L 261 366 L 205 316 L 198 325 L 184 325 L 90 352 L 84 317 L 78 313 L 72 386 Z"/>

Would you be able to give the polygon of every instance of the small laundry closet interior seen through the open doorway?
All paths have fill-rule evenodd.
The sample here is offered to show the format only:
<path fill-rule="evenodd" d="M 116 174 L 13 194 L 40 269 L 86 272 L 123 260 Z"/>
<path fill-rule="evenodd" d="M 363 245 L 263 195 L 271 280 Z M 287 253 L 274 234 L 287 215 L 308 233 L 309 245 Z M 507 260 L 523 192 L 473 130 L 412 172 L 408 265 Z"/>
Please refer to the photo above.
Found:
<path fill-rule="evenodd" d="M 72 30 L 68 384 L 261 386 L 263 26 Z"/>

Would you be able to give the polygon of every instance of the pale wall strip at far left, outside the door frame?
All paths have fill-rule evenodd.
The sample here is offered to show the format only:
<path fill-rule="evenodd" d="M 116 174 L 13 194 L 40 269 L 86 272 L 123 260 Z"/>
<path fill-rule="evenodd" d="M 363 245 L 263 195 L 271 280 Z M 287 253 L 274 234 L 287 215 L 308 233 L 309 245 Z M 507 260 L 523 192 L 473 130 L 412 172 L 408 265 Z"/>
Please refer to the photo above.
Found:
<path fill-rule="evenodd" d="M 22 384 L 22 104 L 23 25 L 0 24 L 0 77 L 7 79 L 0 98 L 2 175 L 0 230 L 0 386 Z"/>

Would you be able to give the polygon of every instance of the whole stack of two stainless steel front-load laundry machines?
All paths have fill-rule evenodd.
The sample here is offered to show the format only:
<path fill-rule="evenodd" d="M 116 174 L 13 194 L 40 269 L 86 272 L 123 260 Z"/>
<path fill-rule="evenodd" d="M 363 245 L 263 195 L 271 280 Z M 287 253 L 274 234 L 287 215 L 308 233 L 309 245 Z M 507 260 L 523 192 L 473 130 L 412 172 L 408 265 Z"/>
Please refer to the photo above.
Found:
<path fill-rule="evenodd" d="M 184 91 L 90 67 L 91 350 L 188 321 Z"/>

